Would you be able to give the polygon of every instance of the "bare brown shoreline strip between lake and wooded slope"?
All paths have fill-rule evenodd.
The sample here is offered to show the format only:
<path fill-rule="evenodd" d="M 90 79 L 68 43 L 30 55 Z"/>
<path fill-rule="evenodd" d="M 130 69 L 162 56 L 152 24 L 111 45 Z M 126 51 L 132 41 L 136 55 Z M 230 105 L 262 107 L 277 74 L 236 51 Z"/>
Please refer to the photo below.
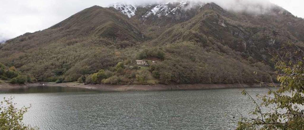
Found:
<path fill-rule="evenodd" d="M 241 87 L 261 87 L 260 84 L 154 84 L 154 85 L 108 85 L 108 84 L 82 84 L 82 83 L 60 83 L 45 82 L 46 86 L 61 87 L 80 87 L 94 89 L 98 91 L 164 91 L 164 90 L 200 90 L 200 89 L 219 89 L 219 88 L 241 88 Z M 11 89 L 19 89 L 26 87 L 40 86 L 38 83 L 26 85 L 19 84 L 0 84 L 0 91 L 9 91 Z"/>

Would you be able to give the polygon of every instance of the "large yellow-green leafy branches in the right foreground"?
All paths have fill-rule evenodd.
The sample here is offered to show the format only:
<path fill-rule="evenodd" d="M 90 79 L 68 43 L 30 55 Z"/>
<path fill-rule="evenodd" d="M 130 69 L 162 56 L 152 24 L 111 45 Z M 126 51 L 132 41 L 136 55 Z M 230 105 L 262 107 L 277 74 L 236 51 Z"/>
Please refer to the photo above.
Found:
<path fill-rule="evenodd" d="M 298 50 L 298 52 L 303 52 Z M 304 129 L 304 57 L 295 58 L 286 63 L 286 59 L 291 57 L 291 53 L 285 53 L 277 60 L 275 72 L 280 84 L 262 83 L 275 89 L 269 88 L 268 94 L 257 94 L 260 103 L 243 91 L 243 95 L 248 95 L 256 104 L 251 117 L 241 116 L 237 130 L 303 130 Z M 302 57 L 302 56 L 301 56 Z"/>

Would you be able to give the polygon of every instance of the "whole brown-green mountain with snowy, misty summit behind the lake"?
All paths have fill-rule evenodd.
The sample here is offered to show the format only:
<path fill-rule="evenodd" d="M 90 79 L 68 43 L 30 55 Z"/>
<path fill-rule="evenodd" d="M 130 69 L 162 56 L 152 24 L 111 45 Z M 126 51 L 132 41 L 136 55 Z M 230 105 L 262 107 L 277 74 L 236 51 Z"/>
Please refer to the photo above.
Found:
<path fill-rule="evenodd" d="M 304 47 L 304 20 L 268 2 L 144 2 L 95 5 L 10 39 L 0 61 L 40 81 L 76 81 L 103 69 L 106 84 L 254 83 L 271 80 L 253 73 L 273 70 L 271 54 L 292 52 L 288 42 Z M 135 60 L 155 63 L 135 69 Z M 127 67 L 118 71 L 119 62 Z"/>

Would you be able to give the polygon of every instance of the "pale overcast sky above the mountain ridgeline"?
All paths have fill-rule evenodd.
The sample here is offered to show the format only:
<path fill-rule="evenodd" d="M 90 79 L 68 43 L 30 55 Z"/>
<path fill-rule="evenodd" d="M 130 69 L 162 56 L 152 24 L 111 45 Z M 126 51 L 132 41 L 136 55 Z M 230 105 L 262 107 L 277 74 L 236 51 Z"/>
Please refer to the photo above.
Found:
<path fill-rule="evenodd" d="M 109 4 L 122 1 L 136 4 L 148 2 L 149 0 L 0 0 L 0 42 L 3 39 L 11 39 L 26 32 L 33 33 L 46 29 L 93 5 L 106 7 Z M 240 2 L 250 0 L 214 1 L 225 6 L 233 5 L 231 1 Z M 250 2 L 252 1 L 256 0 L 251 0 Z M 283 7 L 294 15 L 304 18 L 304 0 L 269 1 Z"/>

